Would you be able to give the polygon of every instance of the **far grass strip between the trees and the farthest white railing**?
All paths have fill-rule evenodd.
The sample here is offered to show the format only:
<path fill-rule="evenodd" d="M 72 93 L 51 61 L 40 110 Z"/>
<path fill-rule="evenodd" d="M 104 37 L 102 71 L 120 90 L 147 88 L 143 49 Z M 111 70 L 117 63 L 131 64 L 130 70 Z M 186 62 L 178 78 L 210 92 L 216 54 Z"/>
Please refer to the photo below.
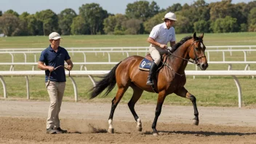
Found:
<path fill-rule="evenodd" d="M 200 35 L 201 33 L 198 33 Z M 180 41 L 193 33 L 177 34 Z M 84 35 L 63 36 L 63 47 L 148 47 L 148 34 L 145 35 Z M 206 46 L 255 45 L 256 33 L 204 33 Z M 48 47 L 48 36 L 14 36 L 0 38 L 0 48 L 44 48 Z"/>

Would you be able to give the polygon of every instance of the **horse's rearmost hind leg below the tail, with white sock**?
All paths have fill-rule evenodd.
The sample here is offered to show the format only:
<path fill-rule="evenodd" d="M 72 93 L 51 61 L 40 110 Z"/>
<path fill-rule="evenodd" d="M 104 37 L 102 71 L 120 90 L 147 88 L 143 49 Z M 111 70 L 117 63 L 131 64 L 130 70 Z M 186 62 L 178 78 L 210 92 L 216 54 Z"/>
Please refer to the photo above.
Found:
<path fill-rule="evenodd" d="M 116 97 L 113 98 L 112 100 L 112 105 L 111 105 L 111 114 L 108 118 L 108 132 L 113 133 L 113 113 L 115 112 L 116 106 L 119 104 L 121 97 L 123 97 L 124 92 L 127 91 L 128 87 L 119 87 L 119 89 L 116 92 Z"/>

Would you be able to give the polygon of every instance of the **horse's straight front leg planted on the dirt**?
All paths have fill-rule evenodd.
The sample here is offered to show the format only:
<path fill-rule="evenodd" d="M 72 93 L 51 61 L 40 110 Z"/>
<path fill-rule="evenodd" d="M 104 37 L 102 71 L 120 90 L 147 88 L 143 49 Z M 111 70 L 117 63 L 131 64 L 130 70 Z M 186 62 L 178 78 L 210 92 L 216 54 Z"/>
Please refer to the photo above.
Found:
<path fill-rule="evenodd" d="M 157 119 L 159 119 L 159 116 L 161 114 L 161 107 L 162 107 L 162 105 L 164 103 L 165 97 L 166 97 L 165 91 L 159 92 L 159 97 L 157 98 L 155 119 L 153 119 L 153 124 L 152 124 L 153 135 L 159 135 L 159 133 L 156 130 L 156 122 L 157 122 Z"/>

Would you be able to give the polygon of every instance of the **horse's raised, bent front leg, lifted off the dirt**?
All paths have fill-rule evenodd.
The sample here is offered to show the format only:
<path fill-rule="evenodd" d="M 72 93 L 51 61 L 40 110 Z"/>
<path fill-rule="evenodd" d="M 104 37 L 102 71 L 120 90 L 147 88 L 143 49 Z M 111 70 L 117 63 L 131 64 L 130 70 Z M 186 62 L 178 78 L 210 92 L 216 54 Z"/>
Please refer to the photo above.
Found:
<path fill-rule="evenodd" d="M 199 125 L 199 111 L 197 110 L 196 107 L 196 97 L 191 95 L 191 93 L 189 93 L 188 90 L 185 89 L 185 87 L 177 89 L 175 91 L 175 94 L 179 95 L 180 97 L 185 97 L 191 100 L 191 102 L 193 103 L 193 114 L 195 115 L 195 118 L 193 119 L 193 124 Z"/>

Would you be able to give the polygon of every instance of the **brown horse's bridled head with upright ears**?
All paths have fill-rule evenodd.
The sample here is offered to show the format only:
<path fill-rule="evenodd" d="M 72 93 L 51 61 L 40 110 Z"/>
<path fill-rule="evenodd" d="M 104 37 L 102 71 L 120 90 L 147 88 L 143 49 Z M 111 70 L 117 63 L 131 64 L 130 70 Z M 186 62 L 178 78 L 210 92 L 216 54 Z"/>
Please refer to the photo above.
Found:
<path fill-rule="evenodd" d="M 191 47 L 189 49 L 189 57 L 195 60 L 196 64 L 201 68 L 201 70 L 206 70 L 208 67 L 207 57 L 204 54 L 206 47 L 203 43 L 204 33 L 201 36 L 196 37 L 196 32 L 193 33 L 193 40 Z"/>

